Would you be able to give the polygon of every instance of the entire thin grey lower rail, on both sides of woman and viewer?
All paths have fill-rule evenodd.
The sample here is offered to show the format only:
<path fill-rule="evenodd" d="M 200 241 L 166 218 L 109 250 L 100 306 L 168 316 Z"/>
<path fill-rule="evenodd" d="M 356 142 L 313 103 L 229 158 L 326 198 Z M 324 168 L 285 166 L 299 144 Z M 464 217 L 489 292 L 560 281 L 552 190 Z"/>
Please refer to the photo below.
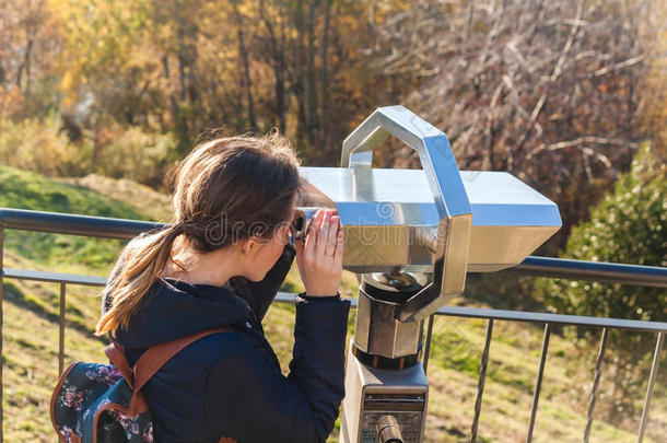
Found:
<path fill-rule="evenodd" d="M 3 277 L 46 281 L 51 283 L 73 283 L 92 287 L 104 287 L 106 278 L 80 276 L 75 273 L 44 272 L 26 269 L 4 268 Z M 278 292 L 274 301 L 278 303 L 294 303 L 295 294 Z M 356 299 L 348 299 L 352 307 L 356 307 Z M 648 333 L 667 331 L 667 323 L 643 322 L 623 318 L 587 317 L 580 315 L 548 314 L 524 311 L 488 310 L 482 307 L 444 306 L 435 312 L 436 315 L 450 317 L 488 318 L 508 322 L 553 323 L 558 325 L 608 327 L 620 329 L 643 330 Z"/>

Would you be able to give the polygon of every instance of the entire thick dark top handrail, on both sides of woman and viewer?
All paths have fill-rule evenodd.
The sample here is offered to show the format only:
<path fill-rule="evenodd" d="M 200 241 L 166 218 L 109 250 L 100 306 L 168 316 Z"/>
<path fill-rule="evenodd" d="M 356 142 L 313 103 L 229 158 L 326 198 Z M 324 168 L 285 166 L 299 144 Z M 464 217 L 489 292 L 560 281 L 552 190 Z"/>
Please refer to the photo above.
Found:
<path fill-rule="evenodd" d="M 0 228 L 3 229 L 130 240 L 141 232 L 164 226 L 156 222 L 0 208 Z M 667 268 L 656 266 L 530 256 L 501 272 L 507 271 L 535 277 L 667 288 Z"/>

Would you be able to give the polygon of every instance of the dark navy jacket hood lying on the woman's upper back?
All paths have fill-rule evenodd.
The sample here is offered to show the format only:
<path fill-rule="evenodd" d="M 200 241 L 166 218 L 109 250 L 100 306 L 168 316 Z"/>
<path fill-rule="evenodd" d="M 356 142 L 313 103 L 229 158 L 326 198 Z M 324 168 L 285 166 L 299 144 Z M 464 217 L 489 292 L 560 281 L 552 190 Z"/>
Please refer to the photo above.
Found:
<path fill-rule="evenodd" d="M 221 288 L 160 278 L 127 329 L 117 329 L 114 339 L 126 348 L 140 349 L 248 320 L 255 323 L 250 306 L 229 284 Z"/>

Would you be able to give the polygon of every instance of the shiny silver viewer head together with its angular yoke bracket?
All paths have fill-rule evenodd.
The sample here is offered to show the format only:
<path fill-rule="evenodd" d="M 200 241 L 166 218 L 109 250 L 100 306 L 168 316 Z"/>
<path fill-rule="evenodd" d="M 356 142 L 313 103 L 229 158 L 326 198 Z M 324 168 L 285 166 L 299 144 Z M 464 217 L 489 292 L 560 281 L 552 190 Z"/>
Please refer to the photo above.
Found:
<path fill-rule="evenodd" d="M 394 136 L 422 170 L 372 168 Z M 444 132 L 402 106 L 382 107 L 344 141 L 342 167 L 302 167 L 301 206 L 337 208 L 353 272 L 418 271 L 433 282 L 402 303 L 422 320 L 465 287 L 466 272 L 519 264 L 561 226 L 557 206 L 507 173 L 459 172 Z"/>

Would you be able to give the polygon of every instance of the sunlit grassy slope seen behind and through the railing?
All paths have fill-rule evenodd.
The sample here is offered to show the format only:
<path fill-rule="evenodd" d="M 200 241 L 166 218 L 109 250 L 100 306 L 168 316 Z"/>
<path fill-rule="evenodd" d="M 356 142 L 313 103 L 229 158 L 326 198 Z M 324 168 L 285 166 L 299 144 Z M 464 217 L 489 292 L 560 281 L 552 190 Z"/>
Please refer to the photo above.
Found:
<path fill-rule="evenodd" d="M 0 207 L 143 220 L 152 219 L 156 213 L 168 213 L 164 206 L 156 208 L 160 201 L 167 205 L 167 199 L 154 195 L 142 197 L 140 187 L 130 193 L 127 190 L 130 187 L 126 186 L 131 194 L 128 197 L 113 180 L 96 179 L 89 184 L 95 190 L 81 183 L 51 180 L 0 167 Z M 131 202 L 113 197 L 127 197 Z M 141 201 L 151 201 L 151 212 L 142 211 Z M 109 240 L 10 231 L 4 266 L 106 276 L 122 245 L 124 242 Z M 356 285 L 355 277 L 344 273 L 341 293 L 354 296 Z M 297 292 L 302 289 L 293 269 L 283 290 Z M 4 434 L 11 442 L 52 441 L 48 400 L 58 369 L 59 289 L 56 284 L 11 280 L 5 281 L 4 290 Z M 68 287 L 66 364 L 74 360 L 105 361 L 103 342 L 92 336 L 100 313 L 97 293 L 98 288 Z M 470 303 L 470 300 L 459 302 Z M 291 359 L 293 320 L 293 306 L 277 303 L 264 322 L 283 371 L 288 370 Z M 435 319 L 429 366 L 426 441 L 469 441 L 485 327 L 487 323 L 478 319 Z M 349 322 L 350 334 L 353 329 L 354 313 Z M 525 440 L 542 334 L 541 327 L 529 324 L 494 324 L 479 441 Z M 597 349 L 569 337 L 554 333 L 551 338 L 534 435 L 537 442 L 581 441 L 583 435 Z M 665 368 L 664 361 L 663 372 Z M 663 382 L 664 377 L 656 386 L 645 441 L 663 441 L 667 434 L 667 393 Z M 636 412 L 613 423 L 600 413 L 609 408 L 612 389 L 611 376 L 605 372 L 592 441 L 635 440 Z M 636 399 L 640 410 L 642 401 L 643 397 Z M 337 435 L 338 430 L 335 430 L 330 441 L 337 441 Z"/>

